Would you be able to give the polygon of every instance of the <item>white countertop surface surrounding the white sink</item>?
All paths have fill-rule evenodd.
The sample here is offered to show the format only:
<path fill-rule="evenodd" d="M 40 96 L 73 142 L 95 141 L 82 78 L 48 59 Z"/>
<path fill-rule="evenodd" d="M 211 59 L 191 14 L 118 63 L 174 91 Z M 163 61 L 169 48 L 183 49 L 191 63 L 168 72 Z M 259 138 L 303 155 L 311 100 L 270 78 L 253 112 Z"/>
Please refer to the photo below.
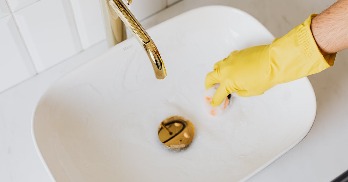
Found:
<path fill-rule="evenodd" d="M 148 28 L 195 7 L 227 5 L 251 14 L 279 37 L 302 23 L 311 13 L 320 13 L 334 1 L 184 0 L 142 23 Z M 0 181 L 50 181 L 32 142 L 32 111 L 50 84 L 105 50 L 103 41 L 0 94 Z M 313 128 L 299 145 L 249 181 L 326 182 L 348 169 L 346 59 L 348 51 L 339 52 L 332 68 L 309 76 L 317 97 L 317 117 Z"/>

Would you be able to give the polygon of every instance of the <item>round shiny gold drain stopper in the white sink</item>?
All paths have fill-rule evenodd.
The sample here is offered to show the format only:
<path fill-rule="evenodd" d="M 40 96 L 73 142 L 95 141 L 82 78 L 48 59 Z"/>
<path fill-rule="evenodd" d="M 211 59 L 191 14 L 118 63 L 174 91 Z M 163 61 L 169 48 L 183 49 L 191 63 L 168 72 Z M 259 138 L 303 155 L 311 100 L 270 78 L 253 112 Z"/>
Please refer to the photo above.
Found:
<path fill-rule="evenodd" d="M 171 149 L 181 149 L 189 145 L 195 136 L 192 123 L 181 116 L 167 117 L 158 127 L 160 141 Z"/>

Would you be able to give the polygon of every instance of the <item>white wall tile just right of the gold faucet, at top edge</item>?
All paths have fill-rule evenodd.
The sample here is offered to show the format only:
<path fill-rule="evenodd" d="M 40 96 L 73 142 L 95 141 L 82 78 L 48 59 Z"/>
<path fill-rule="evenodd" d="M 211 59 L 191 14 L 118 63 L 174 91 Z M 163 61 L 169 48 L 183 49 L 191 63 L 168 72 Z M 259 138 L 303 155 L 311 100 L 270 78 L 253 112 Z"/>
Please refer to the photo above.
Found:
<path fill-rule="evenodd" d="M 137 20 L 144 18 L 164 9 L 167 6 L 166 0 L 135 0 L 128 6 Z"/>

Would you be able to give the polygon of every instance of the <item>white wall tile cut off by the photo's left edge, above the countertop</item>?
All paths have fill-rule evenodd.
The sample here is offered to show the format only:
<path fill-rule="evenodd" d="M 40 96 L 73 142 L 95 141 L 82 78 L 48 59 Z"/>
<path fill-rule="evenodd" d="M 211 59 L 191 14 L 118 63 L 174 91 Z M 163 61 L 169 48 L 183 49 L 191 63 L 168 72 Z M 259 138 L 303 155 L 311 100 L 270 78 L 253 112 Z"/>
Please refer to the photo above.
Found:
<path fill-rule="evenodd" d="M 0 19 L 0 92 L 36 74 L 11 15 Z"/>

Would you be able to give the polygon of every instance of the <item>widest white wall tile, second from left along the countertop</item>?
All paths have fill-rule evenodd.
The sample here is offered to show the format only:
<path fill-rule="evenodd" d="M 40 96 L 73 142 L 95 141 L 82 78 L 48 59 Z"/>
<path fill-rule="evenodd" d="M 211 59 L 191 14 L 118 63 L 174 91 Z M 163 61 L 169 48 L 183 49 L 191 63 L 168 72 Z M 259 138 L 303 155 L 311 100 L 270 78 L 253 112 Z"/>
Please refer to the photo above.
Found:
<path fill-rule="evenodd" d="M 82 50 L 68 0 L 40 0 L 14 16 L 38 72 Z"/>

